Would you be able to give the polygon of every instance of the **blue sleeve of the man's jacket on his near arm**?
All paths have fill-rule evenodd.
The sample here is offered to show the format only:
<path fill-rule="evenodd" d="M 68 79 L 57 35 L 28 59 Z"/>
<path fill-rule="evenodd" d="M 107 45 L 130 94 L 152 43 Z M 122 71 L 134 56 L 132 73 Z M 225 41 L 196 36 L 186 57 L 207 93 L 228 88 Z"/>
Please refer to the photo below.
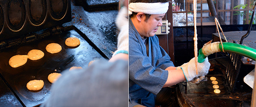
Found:
<path fill-rule="evenodd" d="M 145 90 L 157 94 L 165 84 L 168 72 L 154 68 L 147 55 L 143 55 L 146 46 L 129 33 L 129 79 Z"/>

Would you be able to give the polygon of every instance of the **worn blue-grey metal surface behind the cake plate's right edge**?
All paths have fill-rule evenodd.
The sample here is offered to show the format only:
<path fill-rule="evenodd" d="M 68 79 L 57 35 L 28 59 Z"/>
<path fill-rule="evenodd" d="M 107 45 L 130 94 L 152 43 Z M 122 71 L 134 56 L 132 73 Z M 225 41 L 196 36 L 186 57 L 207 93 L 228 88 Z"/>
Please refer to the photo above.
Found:
<path fill-rule="evenodd" d="M 84 11 L 82 6 L 71 2 L 72 20 L 64 23 L 63 27 L 74 26 L 77 32 L 86 34 L 109 59 L 117 49 L 115 19 L 118 10 Z M 80 20 L 82 19 L 82 20 Z"/>

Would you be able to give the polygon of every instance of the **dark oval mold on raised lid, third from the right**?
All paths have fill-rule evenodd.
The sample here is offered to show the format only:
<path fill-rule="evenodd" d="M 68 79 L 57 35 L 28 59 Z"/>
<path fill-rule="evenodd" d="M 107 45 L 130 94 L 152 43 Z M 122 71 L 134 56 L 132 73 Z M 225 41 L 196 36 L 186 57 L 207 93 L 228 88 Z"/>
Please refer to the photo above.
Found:
<path fill-rule="evenodd" d="M 26 9 L 23 0 L 7 0 L 5 5 L 5 17 L 8 27 L 18 32 L 22 29 L 26 19 Z"/>

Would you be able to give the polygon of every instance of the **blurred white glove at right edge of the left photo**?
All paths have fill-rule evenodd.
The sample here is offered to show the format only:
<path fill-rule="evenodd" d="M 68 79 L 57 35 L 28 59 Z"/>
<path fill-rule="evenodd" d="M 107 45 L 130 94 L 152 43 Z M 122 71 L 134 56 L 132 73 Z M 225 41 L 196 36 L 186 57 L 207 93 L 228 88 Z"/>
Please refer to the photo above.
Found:
<path fill-rule="evenodd" d="M 113 53 L 113 56 L 118 53 L 127 53 L 129 51 L 129 21 L 127 7 L 122 7 L 116 18 L 116 26 L 120 29 L 120 33 L 117 37 L 117 50 Z"/>

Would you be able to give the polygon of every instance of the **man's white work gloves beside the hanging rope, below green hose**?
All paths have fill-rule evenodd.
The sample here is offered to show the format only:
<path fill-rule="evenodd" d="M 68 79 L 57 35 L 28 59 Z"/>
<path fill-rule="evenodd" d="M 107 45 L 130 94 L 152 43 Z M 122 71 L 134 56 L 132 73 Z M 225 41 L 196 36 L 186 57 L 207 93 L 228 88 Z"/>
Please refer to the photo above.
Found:
<path fill-rule="evenodd" d="M 204 60 L 204 62 L 197 63 L 198 74 L 196 74 L 195 58 L 192 58 L 188 63 L 184 63 L 180 67 L 177 67 L 177 70 L 182 69 L 187 82 L 195 83 L 200 80 L 200 78 L 197 77 L 208 74 L 210 65 L 211 64 L 208 62 L 208 57 Z"/>

